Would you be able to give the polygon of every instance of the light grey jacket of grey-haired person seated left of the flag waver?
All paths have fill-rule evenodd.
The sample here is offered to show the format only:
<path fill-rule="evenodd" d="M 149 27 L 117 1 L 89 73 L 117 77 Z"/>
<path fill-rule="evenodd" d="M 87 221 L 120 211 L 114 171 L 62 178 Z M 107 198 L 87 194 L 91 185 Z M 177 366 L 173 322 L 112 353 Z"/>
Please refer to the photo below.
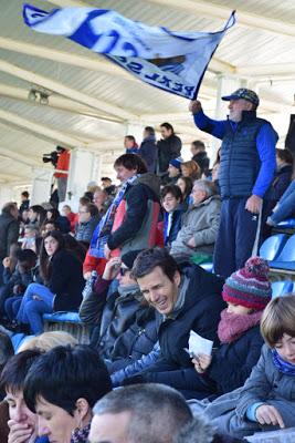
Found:
<path fill-rule="evenodd" d="M 212 195 L 197 206 L 190 206 L 183 214 L 181 229 L 171 245 L 172 256 L 191 256 L 194 253 L 212 254 L 218 235 L 221 200 Z M 186 246 L 193 237 L 196 248 Z"/>

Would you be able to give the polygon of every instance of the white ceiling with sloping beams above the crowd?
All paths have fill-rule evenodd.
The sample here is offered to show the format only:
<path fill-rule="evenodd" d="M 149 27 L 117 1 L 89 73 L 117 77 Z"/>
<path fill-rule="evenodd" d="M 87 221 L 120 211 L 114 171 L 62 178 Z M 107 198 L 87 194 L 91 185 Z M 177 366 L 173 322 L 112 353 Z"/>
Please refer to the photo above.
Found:
<path fill-rule="evenodd" d="M 123 153 L 128 124 L 173 124 L 185 143 L 204 138 L 185 99 L 137 81 L 104 58 L 61 38 L 33 32 L 22 1 L 0 0 L 0 186 L 30 184 L 32 168 L 56 144 L 102 154 L 102 173 Z M 295 112 L 295 2 L 293 0 L 32 0 L 50 11 L 65 6 L 114 9 L 150 25 L 215 31 L 236 10 L 204 76 L 199 96 L 214 114 L 221 75 L 242 79 L 261 96 L 260 113 L 281 136 Z M 49 105 L 28 99 L 32 85 L 50 91 Z M 208 142 L 210 143 L 210 142 Z"/>

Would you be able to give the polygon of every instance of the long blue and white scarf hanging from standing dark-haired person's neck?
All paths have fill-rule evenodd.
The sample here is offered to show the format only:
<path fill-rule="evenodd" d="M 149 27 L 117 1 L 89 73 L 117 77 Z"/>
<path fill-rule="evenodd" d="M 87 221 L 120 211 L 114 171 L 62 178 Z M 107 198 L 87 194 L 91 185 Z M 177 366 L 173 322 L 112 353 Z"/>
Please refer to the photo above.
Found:
<path fill-rule="evenodd" d="M 123 197 L 127 190 L 127 187 L 133 184 L 140 175 L 134 175 L 133 177 L 128 178 L 119 188 L 114 198 L 112 205 L 107 209 L 106 214 L 103 216 L 98 225 L 96 226 L 91 240 L 91 248 L 89 248 L 89 256 L 96 258 L 104 258 L 104 247 L 108 240 L 108 237 L 112 233 L 112 228 L 114 225 L 115 214 L 117 207 L 119 206 Z"/>

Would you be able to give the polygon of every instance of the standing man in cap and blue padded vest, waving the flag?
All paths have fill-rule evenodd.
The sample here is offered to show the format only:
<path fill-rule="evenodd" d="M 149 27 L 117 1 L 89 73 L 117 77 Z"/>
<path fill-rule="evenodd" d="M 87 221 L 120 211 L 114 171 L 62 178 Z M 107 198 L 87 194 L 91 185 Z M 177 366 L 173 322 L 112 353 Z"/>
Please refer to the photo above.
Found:
<path fill-rule="evenodd" d="M 260 235 L 263 202 L 275 172 L 278 138 L 270 122 L 256 116 L 260 99 L 240 87 L 222 97 L 229 102 L 228 120 L 209 119 L 198 100 L 189 110 L 199 130 L 222 140 L 219 186 L 221 219 L 214 250 L 214 270 L 229 277 L 244 266 Z"/>

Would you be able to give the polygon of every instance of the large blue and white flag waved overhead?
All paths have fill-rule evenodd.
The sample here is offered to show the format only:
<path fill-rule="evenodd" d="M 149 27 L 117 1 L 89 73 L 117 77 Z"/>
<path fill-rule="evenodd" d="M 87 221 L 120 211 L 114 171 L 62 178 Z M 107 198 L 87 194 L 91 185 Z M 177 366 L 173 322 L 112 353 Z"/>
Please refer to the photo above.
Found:
<path fill-rule="evenodd" d="M 34 31 L 64 35 L 104 54 L 152 86 L 196 99 L 214 51 L 234 22 L 232 12 L 218 32 L 171 32 L 129 20 L 116 11 L 64 8 L 45 12 L 23 6 L 24 22 Z"/>

